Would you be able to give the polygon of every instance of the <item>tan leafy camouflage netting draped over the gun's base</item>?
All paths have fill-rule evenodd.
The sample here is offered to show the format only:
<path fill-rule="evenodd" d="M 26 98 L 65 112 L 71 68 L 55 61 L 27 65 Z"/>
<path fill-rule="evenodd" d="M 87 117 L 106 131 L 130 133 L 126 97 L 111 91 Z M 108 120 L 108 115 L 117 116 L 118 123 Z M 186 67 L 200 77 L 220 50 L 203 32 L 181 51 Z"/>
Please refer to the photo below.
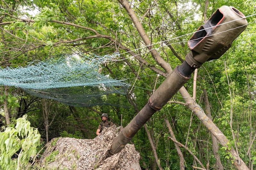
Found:
<path fill-rule="evenodd" d="M 94 139 L 59 138 L 47 144 L 42 165 L 47 168 L 77 169 L 77 170 L 126 170 L 136 162 L 140 155 L 134 145 L 127 144 L 121 152 L 106 159 L 108 150 L 118 135 L 118 128 L 114 125 L 105 128 Z M 55 144 L 56 143 L 56 144 Z M 57 151 L 57 152 L 56 152 Z M 48 152 L 48 153 L 47 153 Z M 47 162 L 54 152 L 57 153 L 51 162 Z M 48 155 L 48 156 L 47 156 Z"/>

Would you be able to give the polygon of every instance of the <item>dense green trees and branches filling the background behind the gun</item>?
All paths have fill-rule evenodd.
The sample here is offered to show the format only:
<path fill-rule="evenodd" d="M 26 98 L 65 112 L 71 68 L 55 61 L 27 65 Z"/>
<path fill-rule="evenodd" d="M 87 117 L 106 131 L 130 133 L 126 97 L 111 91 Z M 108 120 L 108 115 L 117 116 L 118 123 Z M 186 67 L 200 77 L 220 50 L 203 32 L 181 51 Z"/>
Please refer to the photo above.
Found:
<path fill-rule="evenodd" d="M 117 125 L 127 125 L 183 62 L 191 33 L 222 5 L 234 6 L 245 16 L 256 13 L 254 0 L 1 0 L 1 68 L 58 59 L 60 54 L 119 52 L 99 72 L 131 85 L 126 96 L 106 98 L 118 107 L 86 108 L 0 86 L 1 126 L 13 126 L 28 115 L 46 143 L 54 137 L 96 137 L 101 113 L 108 113 Z M 249 25 L 232 47 L 198 69 L 196 91 L 193 74 L 132 139 L 142 168 L 242 169 L 240 162 L 255 168 L 256 24 L 255 16 L 246 19 Z"/>

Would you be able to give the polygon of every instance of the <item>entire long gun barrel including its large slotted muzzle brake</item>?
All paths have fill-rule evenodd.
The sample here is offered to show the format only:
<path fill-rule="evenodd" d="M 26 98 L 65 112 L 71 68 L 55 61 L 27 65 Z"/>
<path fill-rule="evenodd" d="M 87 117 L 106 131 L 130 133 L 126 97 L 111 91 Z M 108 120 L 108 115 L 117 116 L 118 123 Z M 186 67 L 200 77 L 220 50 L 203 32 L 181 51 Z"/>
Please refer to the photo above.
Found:
<path fill-rule="evenodd" d="M 206 24 L 200 26 L 188 41 L 190 51 L 185 61 L 172 71 L 148 99 L 148 103 L 119 133 L 108 155 L 112 156 L 121 151 L 141 126 L 189 80 L 196 68 L 206 61 L 220 58 L 231 47 L 236 37 L 244 31 L 247 24 L 244 14 L 234 7 L 222 6 L 215 11 Z"/>

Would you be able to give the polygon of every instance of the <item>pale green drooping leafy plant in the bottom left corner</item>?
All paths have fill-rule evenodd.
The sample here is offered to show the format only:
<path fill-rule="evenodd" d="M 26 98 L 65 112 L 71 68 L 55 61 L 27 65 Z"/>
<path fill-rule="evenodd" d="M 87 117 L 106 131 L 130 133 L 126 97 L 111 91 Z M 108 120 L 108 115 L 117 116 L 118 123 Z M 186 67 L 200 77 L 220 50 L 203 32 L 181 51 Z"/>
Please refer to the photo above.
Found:
<path fill-rule="evenodd" d="M 15 128 L 8 127 L 0 133 L 0 167 L 1 169 L 20 169 L 29 159 L 36 157 L 36 147 L 40 144 L 36 128 L 30 127 L 27 115 L 17 119 Z M 11 159 L 20 150 L 18 159 Z"/>

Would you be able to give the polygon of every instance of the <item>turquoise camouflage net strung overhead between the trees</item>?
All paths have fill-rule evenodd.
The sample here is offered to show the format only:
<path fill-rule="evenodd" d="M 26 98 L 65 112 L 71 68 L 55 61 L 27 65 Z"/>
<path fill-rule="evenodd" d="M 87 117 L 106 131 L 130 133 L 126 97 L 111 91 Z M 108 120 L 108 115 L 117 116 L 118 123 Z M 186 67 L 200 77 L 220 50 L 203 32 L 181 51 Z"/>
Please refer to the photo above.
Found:
<path fill-rule="evenodd" d="M 0 85 L 20 87 L 33 96 L 75 107 L 120 105 L 112 99 L 116 93 L 126 94 L 129 85 L 98 72 L 100 64 L 116 56 L 62 55 L 59 60 L 34 61 L 15 69 L 7 67 L 0 69 Z"/>

